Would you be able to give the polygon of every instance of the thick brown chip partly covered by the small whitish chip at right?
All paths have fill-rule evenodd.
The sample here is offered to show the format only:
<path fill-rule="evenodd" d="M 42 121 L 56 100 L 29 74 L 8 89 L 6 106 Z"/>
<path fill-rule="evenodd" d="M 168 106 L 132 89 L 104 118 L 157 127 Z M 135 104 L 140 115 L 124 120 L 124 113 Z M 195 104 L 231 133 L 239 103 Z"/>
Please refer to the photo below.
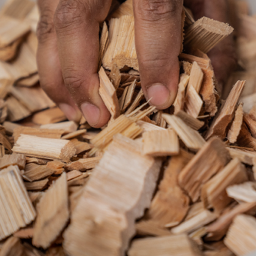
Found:
<path fill-rule="evenodd" d="M 204 207 L 214 208 L 214 211 L 220 214 L 231 202 L 226 188 L 245 181 L 248 181 L 246 168 L 238 158 L 234 158 L 201 188 L 201 200 L 204 202 Z"/>

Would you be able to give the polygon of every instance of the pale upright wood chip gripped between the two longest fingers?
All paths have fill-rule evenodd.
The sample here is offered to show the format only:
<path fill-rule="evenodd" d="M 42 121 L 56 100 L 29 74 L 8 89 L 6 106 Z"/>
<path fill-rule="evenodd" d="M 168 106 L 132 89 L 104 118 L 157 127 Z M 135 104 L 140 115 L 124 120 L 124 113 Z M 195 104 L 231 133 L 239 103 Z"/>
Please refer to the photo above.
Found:
<path fill-rule="evenodd" d="M 132 16 L 111 18 L 109 22 L 109 44 L 102 60 L 103 66 L 111 70 L 115 63 L 119 69 L 125 65 L 138 70 L 135 50 L 135 20 Z"/>

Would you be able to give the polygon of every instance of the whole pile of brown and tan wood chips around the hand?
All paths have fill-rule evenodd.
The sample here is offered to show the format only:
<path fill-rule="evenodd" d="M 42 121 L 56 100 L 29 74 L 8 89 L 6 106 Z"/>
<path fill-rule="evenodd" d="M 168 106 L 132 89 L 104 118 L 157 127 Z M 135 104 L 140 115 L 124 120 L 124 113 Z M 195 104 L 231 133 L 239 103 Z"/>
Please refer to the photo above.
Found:
<path fill-rule="evenodd" d="M 101 130 L 39 87 L 38 7 L 0 12 L 0 256 L 230 256 L 256 251 L 256 17 L 229 1 L 239 71 L 220 99 L 207 53 L 230 25 L 184 8 L 171 108 L 141 90 L 131 0 L 101 26 Z M 223 63 L 224 65 L 224 63 Z M 244 80 L 247 80 L 245 83 Z"/>

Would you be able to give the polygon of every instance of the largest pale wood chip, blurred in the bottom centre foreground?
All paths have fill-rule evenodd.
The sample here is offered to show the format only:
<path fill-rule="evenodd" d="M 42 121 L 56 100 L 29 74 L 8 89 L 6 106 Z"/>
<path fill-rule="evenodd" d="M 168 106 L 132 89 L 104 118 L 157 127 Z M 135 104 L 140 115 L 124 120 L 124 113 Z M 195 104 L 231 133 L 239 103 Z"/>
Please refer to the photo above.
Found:
<path fill-rule="evenodd" d="M 71 215 L 64 233 L 68 254 L 115 256 L 128 248 L 135 219 L 150 205 L 161 166 L 138 148 L 138 141 L 115 135 Z"/>

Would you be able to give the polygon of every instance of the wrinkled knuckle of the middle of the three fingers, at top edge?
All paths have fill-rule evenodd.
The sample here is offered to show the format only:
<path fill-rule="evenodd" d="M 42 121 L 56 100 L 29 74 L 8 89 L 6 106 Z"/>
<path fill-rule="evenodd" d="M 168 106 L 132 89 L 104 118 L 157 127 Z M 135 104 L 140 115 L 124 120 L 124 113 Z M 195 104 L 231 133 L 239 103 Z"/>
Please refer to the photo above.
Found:
<path fill-rule="evenodd" d="M 75 28 L 91 17 L 91 8 L 86 1 L 62 0 L 55 12 L 55 28 Z"/>

